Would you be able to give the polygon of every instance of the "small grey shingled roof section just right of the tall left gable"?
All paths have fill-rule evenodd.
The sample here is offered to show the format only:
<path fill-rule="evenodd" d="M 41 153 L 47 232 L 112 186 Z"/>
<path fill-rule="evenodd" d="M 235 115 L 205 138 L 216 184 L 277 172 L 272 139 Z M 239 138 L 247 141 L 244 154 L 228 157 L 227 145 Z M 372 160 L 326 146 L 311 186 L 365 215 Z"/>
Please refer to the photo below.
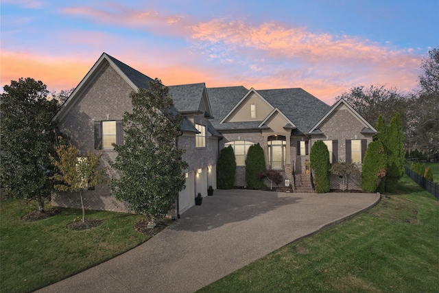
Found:
<path fill-rule="evenodd" d="M 181 84 L 176 86 L 168 86 L 169 94 L 174 101 L 174 106 L 178 112 L 195 112 L 198 111 L 202 94 L 204 90 L 204 82 L 199 84 Z"/>

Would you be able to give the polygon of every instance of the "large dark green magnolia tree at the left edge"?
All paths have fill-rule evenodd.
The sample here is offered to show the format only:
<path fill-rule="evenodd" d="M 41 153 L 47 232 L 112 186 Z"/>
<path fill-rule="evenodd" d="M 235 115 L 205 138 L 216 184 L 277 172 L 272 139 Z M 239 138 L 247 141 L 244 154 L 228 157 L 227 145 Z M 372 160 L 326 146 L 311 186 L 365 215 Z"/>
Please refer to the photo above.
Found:
<path fill-rule="evenodd" d="M 47 99 L 46 85 L 20 78 L 3 87 L 1 97 L 0 178 L 5 198 L 37 200 L 44 211 L 54 183 L 48 153 L 54 154 L 58 103 Z"/>

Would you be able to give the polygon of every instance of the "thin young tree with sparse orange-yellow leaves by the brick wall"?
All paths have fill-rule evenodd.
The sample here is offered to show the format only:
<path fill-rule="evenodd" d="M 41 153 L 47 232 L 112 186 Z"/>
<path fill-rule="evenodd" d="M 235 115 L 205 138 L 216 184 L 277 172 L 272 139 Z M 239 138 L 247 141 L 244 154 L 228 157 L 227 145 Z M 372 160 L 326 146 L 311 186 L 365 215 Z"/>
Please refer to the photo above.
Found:
<path fill-rule="evenodd" d="M 101 152 L 88 151 L 80 156 L 80 148 L 73 145 L 59 145 L 56 148 L 58 160 L 51 156 L 56 173 L 51 178 L 58 181 L 55 189 L 59 191 L 79 192 L 82 208 L 82 222 L 85 222 L 85 208 L 82 194 L 84 190 L 103 183 L 106 169 L 98 169 Z"/>

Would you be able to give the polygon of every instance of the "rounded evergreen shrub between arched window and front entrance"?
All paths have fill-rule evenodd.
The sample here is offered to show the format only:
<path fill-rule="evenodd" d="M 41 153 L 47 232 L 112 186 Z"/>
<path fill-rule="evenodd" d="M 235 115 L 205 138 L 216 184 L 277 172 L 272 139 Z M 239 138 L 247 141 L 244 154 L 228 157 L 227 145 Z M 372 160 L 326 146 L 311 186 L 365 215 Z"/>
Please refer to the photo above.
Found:
<path fill-rule="evenodd" d="M 265 185 L 259 178 L 259 172 L 265 169 L 265 155 L 259 143 L 250 145 L 246 157 L 246 182 L 250 189 L 263 189 Z"/>

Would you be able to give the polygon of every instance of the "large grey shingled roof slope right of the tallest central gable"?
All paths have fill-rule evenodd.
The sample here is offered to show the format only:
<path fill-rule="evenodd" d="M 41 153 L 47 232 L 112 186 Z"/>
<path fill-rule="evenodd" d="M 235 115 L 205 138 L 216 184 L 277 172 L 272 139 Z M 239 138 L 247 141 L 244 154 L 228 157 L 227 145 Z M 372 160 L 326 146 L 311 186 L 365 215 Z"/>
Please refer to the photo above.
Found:
<path fill-rule="evenodd" d="M 300 88 L 257 92 L 297 126 L 296 133 L 307 133 L 331 108 Z"/>

